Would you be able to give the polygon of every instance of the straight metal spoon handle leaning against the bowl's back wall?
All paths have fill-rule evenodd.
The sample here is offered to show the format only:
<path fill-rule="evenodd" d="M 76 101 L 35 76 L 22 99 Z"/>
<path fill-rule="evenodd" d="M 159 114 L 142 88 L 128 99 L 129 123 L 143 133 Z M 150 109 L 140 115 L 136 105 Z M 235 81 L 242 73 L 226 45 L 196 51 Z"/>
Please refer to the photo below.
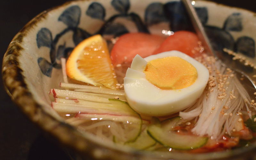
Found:
<path fill-rule="evenodd" d="M 185 5 L 185 7 L 188 11 L 190 20 L 192 21 L 193 27 L 196 30 L 199 40 L 202 42 L 202 44 L 204 46 L 204 50 L 206 50 L 206 52 L 209 52 L 210 54 L 216 56 L 216 54 L 214 53 L 214 50 L 212 49 L 210 41 L 204 31 L 204 27 L 203 27 L 199 17 L 197 16 L 196 10 L 191 4 L 191 1 L 190 0 L 181 0 L 181 1 L 183 2 L 183 4 Z"/>

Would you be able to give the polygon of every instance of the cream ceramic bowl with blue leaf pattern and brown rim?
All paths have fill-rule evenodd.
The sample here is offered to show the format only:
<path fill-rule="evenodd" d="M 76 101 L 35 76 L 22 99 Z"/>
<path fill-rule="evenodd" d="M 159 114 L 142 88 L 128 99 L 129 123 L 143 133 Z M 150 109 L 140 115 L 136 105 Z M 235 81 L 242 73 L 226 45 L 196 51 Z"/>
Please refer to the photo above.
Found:
<path fill-rule="evenodd" d="M 216 50 L 255 57 L 255 13 L 196 1 L 195 8 Z M 227 159 L 253 156 L 256 145 L 218 153 L 148 153 L 105 144 L 64 123 L 51 108 L 50 88 L 62 81 L 60 58 L 83 39 L 127 32 L 162 34 L 193 30 L 180 1 L 79 0 L 40 13 L 13 38 L 3 60 L 6 91 L 21 110 L 61 144 L 94 159 Z"/>

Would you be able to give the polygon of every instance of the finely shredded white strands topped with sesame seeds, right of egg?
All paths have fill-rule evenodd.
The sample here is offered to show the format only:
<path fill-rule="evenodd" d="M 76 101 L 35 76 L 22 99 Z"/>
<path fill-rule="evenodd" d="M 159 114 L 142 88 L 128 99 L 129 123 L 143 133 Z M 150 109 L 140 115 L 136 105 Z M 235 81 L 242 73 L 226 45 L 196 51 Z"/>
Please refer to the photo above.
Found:
<path fill-rule="evenodd" d="M 208 135 L 211 139 L 218 139 L 225 132 L 231 135 L 240 117 L 237 112 L 246 106 L 249 116 L 252 116 L 252 105 L 248 103 L 250 96 L 234 72 L 223 67 L 220 61 L 208 56 L 196 60 L 209 69 L 210 78 L 204 94 L 196 104 L 180 112 L 180 116 L 184 120 L 198 117 L 192 129 L 197 135 Z"/>

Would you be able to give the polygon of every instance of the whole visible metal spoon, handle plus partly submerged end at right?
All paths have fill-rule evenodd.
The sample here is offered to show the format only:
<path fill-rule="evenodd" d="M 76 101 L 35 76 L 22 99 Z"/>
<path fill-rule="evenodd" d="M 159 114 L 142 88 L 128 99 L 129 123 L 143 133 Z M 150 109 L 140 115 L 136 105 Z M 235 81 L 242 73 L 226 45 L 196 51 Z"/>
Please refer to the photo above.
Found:
<path fill-rule="evenodd" d="M 187 9 L 190 20 L 193 24 L 194 29 L 196 30 L 196 34 L 198 35 L 198 38 L 200 39 L 200 41 L 204 46 L 204 50 L 210 53 L 211 55 L 214 55 L 216 58 L 218 58 L 217 56 L 218 54 L 216 54 L 216 52 L 212 49 L 210 40 L 208 39 L 206 32 L 204 31 L 204 27 L 196 13 L 195 8 L 192 6 L 191 1 L 190 0 L 181 0 L 181 1 L 183 2 L 185 8 Z M 256 88 L 255 82 L 252 80 L 253 76 L 255 75 L 255 69 L 252 68 L 253 72 L 248 72 L 247 70 L 245 70 L 245 68 L 242 68 L 241 65 L 236 65 L 236 63 L 232 63 L 232 64 L 222 63 L 222 65 L 236 71 L 236 73 L 238 73 L 237 75 L 239 76 L 243 75 L 244 77 L 246 77 L 247 78 L 246 81 L 247 82 L 249 81 L 252 83 L 253 89 Z M 242 82 L 242 84 L 243 83 L 244 82 Z"/>

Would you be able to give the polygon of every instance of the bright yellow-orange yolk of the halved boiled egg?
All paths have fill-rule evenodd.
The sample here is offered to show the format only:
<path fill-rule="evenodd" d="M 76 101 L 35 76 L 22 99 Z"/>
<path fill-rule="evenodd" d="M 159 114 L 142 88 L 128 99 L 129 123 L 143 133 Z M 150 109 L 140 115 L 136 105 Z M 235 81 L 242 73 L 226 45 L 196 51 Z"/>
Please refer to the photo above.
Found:
<path fill-rule="evenodd" d="M 146 79 L 160 89 L 182 89 L 197 79 L 197 70 L 180 57 L 165 57 L 148 62 Z"/>

